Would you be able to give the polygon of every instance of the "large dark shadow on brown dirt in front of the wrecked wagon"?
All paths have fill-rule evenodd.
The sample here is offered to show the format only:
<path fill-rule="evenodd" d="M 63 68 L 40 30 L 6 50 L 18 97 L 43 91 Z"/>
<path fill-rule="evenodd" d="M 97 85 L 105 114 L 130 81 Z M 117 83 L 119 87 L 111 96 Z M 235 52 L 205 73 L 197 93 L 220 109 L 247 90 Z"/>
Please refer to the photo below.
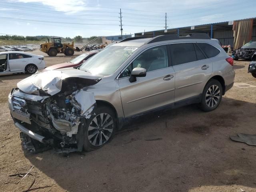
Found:
<path fill-rule="evenodd" d="M 137 118 L 93 152 L 67 158 L 51 150 L 26 158 L 67 191 L 188 192 L 232 185 L 256 190 L 256 148 L 229 139 L 238 132 L 256 134 L 255 109 L 228 98 L 208 113 L 190 105 Z"/>

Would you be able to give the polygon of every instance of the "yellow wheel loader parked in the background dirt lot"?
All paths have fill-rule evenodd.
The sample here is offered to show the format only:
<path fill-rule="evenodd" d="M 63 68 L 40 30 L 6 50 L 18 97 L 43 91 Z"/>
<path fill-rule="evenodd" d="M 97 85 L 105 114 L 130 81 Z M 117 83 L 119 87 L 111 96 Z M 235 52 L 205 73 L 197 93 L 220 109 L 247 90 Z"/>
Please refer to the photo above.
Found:
<path fill-rule="evenodd" d="M 95 38 L 88 44 L 95 41 L 96 39 L 98 38 Z M 82 51 L 88 44 L 84 45 L 82 48 L 74 48 L 74 42 L 62 44 L 60 37 L 54 37 L 52 38 L 52 42 L 50 42 L 48 39 L 48 42 L 40 44 L 40 51 L 47 53 L 49 56 L 56 56 L 58 53 L 72 56 L 74 55 L 75 51 Z"/>

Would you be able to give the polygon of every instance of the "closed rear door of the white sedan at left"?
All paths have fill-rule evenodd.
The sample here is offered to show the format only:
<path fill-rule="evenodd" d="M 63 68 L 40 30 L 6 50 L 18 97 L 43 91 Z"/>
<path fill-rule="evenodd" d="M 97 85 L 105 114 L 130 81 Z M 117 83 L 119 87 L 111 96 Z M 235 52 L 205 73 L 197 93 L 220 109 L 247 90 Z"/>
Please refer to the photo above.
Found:
<path fill-rule="evenodd" d="M 28 64 L 28 58 L 24 54 L 10 53 L 9 66 L 11 72 L 24 72 Z"/>

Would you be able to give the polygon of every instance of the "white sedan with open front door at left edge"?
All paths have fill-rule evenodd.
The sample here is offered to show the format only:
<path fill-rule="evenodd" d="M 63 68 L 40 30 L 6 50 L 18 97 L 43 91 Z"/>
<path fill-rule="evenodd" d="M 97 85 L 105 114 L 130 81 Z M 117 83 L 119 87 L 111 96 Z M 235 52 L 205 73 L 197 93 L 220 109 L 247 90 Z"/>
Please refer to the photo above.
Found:
<path fill-rule="evenodd" d="M 26 72 L 34 74 L 37 70 L 44 69 L 44 56 L 8 51 L 0 53 L 0 74 Z"/>

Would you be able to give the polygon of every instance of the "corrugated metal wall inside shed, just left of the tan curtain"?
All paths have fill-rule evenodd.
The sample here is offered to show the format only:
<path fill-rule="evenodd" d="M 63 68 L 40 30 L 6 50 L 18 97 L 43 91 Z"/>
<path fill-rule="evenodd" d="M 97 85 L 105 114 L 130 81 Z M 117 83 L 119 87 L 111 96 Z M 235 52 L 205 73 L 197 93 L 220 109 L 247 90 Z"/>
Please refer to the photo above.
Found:
<path fill-rule="evenodd" d="M 220 40 L 222 45 L 230 45 L 231 49 L 234 46 L 233 30 L 213 32 L 213 38 Z"/>

